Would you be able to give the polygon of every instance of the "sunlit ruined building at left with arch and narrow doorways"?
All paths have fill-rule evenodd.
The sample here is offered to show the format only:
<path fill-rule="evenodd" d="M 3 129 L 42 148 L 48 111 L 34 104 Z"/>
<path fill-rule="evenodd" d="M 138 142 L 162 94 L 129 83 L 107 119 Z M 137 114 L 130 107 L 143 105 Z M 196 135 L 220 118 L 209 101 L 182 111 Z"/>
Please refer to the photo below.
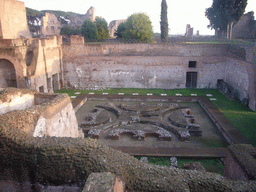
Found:
<path fill-rule="evenodd" d="M 0 87 L 53 92 L 62 86 L 61 36 L 0 41 Z"/>

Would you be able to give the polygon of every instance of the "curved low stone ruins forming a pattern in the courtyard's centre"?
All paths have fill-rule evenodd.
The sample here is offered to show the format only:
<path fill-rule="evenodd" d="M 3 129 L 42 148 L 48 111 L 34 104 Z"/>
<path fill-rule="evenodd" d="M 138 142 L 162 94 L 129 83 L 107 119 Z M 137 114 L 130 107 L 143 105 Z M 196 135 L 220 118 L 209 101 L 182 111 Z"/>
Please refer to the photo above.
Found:
<path fill-rule="evenodd" d="M 108 102 L 95 106 L 86 114 L 80 127 L 94 139 L 107 133 L 107 138 L 120 140 L 121 135 L 132 135 L 134 140 L 143 141 L 148 136 L 158 137 L 160 141 L 171 141 L 174 133 L 181 141 L 190 141 L 192 136 L 202 136 L 200 126 L 189 108 L 178 104 L 121 104 Z M 145 128 L 137 128 L 143 124 Z"/>

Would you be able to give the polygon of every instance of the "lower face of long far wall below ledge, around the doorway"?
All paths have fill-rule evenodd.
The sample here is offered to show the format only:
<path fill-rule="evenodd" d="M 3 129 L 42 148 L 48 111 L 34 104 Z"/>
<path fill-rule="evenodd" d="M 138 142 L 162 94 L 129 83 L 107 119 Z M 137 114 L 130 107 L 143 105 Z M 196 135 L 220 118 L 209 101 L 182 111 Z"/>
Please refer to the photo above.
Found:
<path fill-rule="evenodd" d="M 189 68 L 189 61 L 195 60 L 197 68 Z M 65 84 L 81 89 L 186 88 L 186 72 L 195 71 L 198 88 L 216 88 L 217 80 L 224 76 L 223 62 L 225 58 L 210 57 L 80 57 L 65 65 Z M 213 71 L 215 76 L 212 76 Z"/>

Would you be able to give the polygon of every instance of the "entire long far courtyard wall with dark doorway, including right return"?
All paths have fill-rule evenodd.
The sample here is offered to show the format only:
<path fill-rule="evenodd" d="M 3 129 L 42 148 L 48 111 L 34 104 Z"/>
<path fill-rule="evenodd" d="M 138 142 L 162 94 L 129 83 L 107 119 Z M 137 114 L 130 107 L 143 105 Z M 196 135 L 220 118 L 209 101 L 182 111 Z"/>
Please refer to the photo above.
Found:
<path fill-rule="evenodd" d="M 253 60 L 253 47 L 227 44 L 63 45 L 67 87 L 217 88 L 221 79 L 255 110 Z"/>

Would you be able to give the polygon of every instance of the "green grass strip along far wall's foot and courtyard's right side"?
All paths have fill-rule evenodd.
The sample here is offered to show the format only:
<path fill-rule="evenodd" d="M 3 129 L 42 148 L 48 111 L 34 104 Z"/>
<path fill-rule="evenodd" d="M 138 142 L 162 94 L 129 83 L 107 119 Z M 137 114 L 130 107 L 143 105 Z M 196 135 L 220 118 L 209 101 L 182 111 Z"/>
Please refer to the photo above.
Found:
<path fill-rule="evenodd" d="M 118 93 L 124 93 L 125 95 L 132 95 L 133 93 L 139 93 L 139 95 L 147 95 L 147 93 L 152 93 L 153 95 L 167 94 L 168 96 L 174 96 L 178 93 L 182 94 L 183 96 L 190 96 L 191 94 L 206 96 L 206 94 L 212 94 L 212 97 L 217 99 L 217 101 L 212 101 L 213 104 L 218 107 L 220 111 L 230 120 L 230 122 L 250 141 L 254 147 L 256 147 L 256 129 L 254 126 L 254 123 L 256 122 L 256 113 L 237 101 L 230 101 L 216 89 L 166 90 L 111 88 L 95 91 L 62 89 L 57 92 L 68 93 L 69 96 L 75 96 L 75 92 L 81 92 L 81 94 L 89 94 L 90 92 L 94 92 L 95 94 L 109 93 L 110 95 Z"/>

